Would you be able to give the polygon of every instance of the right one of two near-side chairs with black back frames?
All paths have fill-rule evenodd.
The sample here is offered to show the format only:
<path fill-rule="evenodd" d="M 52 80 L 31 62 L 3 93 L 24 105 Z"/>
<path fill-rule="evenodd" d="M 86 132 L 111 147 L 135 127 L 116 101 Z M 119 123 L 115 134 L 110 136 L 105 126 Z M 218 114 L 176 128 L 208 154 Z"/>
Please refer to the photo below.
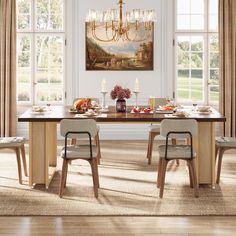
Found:
<path fill-rule="evenodd" d="M 194 188 L 195 197 L 199 197 L 198 180 L 195 168 L 196 152 L 193 150 L 193 136 L 197 134 L 198 125 L 194 119 L 164 119 L 161 122 L 160 134 L 165 137 L 165 145 L 158 147 L 160 162 L 158 165 L 157 187 L 160 188 L 159 196 L 163 197 L 167 164 L 171 160 L 185 160 L 189 169 L 190 187 Z M 173 145 L 169 138 L 188 139 L 190 143 Z"/>

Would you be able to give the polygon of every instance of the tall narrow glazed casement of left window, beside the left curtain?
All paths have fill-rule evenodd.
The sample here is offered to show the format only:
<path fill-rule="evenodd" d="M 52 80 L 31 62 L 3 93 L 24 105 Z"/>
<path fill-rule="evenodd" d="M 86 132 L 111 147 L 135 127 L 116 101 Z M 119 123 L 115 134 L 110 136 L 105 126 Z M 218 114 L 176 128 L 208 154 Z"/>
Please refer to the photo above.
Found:
<path fill-rule="evenodd" d="M 29 35 L 17 36 L 17 100 L 31 100 L 31 41 Z"/>

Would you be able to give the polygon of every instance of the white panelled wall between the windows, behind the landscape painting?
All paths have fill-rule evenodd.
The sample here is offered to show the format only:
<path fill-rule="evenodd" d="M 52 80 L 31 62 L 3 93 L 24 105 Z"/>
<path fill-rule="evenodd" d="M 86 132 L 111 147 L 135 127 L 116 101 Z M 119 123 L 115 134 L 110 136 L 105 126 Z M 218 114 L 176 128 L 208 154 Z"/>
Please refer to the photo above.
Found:
<path fill-rule="evenodd" d="M 149 96 L 171 97 L 173 94 L 172 56 L 172 0 L 126 0 L 124 10 L 154 9 L 158 16 L 154 30 L 153 71 L 86 71 L 85 70 L 85 17 L 89 9 L 118 7 L 117 0 L 68 0 L 67 12 L 67 104 L 75 97 L 99 97 L 101 80 L 106 78 L 111 90 L 120 84 L 133 90 L 135 78 L 139 79 L 139 103 L 147 104 Z M 134 104 L 134 96 L 127 105 Z M 106 97 L 106 103 L 115 102 Z M 102 125 L 104 139 L 147 139 L 147 125 Z"/>

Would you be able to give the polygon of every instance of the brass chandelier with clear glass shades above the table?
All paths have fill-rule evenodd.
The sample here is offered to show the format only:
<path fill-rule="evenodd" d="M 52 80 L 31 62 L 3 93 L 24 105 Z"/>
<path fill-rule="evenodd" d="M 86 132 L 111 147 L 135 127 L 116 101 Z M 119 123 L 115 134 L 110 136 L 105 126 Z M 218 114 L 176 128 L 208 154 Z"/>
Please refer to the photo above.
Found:
<path fill-rule="evenodd" d="M 123 0 L 119 0 L 118 5 L 119 9 L 89 10 L 86 22 L 92 37 L 100 42 L 142 42 L 148 39 L 156 21 L 155 11 L 134 9 L 123 13 Z"/>

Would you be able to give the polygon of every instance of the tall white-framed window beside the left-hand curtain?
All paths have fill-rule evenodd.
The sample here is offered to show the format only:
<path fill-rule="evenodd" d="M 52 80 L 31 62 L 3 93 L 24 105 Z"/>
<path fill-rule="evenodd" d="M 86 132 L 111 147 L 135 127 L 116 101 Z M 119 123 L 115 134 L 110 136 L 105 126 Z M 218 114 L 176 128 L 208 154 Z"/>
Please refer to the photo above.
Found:
<path fill-rule="evenodd" d="M 64 1 L 17 0 L 18 103 L 64 100 Z"/>

